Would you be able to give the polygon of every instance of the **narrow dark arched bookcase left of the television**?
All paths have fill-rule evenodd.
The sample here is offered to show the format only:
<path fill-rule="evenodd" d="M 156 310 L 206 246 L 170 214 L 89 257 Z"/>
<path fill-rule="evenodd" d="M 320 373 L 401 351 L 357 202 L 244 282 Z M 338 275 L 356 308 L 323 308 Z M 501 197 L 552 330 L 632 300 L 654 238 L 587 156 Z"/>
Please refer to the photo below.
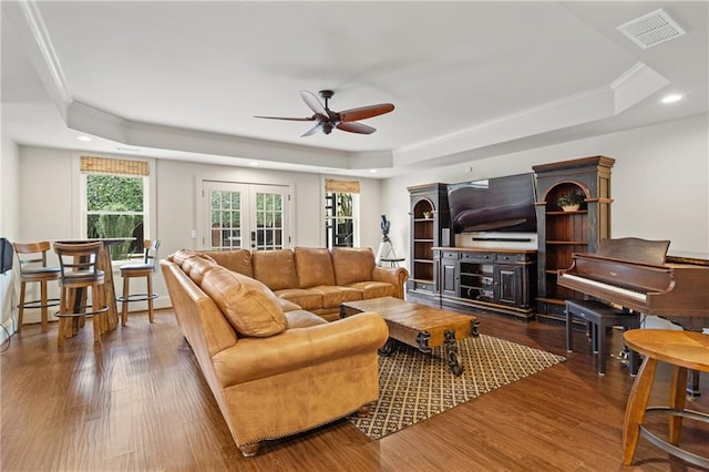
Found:
<path fill-rule="evenodd" d="M 407 295 L 432 301 L 438 296 L 438 267 L 433 264 L 433 248 L 451 244 L 448 184 L 427 184 L 409 187 L 411 201 L 411 240 Z"/>

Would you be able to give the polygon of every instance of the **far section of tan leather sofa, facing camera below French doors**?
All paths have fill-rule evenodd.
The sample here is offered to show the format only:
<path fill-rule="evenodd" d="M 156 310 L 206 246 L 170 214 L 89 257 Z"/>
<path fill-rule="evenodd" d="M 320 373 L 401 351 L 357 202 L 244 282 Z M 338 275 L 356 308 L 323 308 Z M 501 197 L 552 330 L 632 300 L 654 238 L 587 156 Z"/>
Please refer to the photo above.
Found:
<path fill-rule="evenodd" d="M 264 283 L 279 298 L 327 320 L 340 304 L 379 297 L 403 299 L 407 269 L 378 267 L 370 248 L 296 247 L 206 252 L 219 265 Z"/>

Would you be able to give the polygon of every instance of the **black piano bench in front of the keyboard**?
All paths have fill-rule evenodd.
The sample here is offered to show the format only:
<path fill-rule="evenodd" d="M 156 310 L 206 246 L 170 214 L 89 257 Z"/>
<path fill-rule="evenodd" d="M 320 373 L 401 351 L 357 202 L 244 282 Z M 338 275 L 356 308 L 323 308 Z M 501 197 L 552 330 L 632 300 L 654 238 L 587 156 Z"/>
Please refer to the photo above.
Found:
<path fill-rule="evenodd" d="M 637 312 L 623 311 L 595 300 L 566 300 L 566 350 L 573 349 L 573 318 L 580 318 L 590 325 L 590 338 L 594 352 L 598 353 L 598 374 L 606 373 L 606 329 L 614 326 L 621 326 L 624 330 L 637 329 L 640 327 L 640 315 Z M 628 368 L 630 374 L 635 376 L 640 367 L 640 358 L 637 352 L 629 350 Z"/>

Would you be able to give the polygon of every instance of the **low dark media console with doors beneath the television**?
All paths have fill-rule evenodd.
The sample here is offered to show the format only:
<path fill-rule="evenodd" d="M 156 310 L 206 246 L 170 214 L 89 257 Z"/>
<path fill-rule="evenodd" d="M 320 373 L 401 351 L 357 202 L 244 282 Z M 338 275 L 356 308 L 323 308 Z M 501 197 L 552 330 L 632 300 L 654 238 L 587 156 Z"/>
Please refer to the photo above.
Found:
<path fill-rule="evenodd" d="M 443 306 L 532 318 L 536 250 L 436 247 Z"/>

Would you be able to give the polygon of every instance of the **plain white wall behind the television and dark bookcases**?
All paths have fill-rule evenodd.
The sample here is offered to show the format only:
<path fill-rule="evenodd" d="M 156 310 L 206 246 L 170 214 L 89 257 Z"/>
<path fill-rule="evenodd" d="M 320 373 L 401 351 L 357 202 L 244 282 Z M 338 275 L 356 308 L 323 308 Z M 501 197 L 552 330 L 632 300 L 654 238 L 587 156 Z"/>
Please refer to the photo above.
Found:
<path fill-rule="evenodd" d="M 708 115 L 605 134 L 548 147 L 427 170 L 383 183 L 390 237 L 409 256 L 407 186 L 532 172 L 532 166 L 605 155 L 612 172 L 612 236 L 670 239 L 670 252 L 709 253 Z M 465 170 L 472 166 L 473 172 Z"/>

